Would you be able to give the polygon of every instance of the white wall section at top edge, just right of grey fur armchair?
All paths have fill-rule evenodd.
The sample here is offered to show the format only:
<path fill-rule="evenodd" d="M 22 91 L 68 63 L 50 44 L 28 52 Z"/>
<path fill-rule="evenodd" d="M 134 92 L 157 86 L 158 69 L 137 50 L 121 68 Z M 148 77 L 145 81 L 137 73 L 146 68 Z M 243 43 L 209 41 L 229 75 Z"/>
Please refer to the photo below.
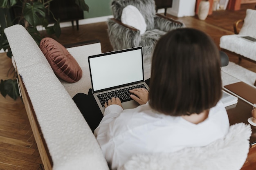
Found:
<path fill-rule="evenodd" d="M 176 16 L 194 16 L 196 0 L 173 0 L 173 6 L 167 9 L 167 13 Z"/>

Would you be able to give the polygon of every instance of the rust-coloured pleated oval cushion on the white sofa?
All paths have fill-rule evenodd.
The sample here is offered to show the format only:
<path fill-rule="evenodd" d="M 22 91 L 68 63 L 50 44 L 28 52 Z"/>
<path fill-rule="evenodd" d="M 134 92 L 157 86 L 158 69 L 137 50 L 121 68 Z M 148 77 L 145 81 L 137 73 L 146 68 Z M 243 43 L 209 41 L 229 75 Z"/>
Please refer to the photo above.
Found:
<path fill-rule="evenodd" d="M 43 38 L 40 49 L 58 77 L 70 83 L 81 79 L 81 67 L 63 45 L 52 38 Z"/>

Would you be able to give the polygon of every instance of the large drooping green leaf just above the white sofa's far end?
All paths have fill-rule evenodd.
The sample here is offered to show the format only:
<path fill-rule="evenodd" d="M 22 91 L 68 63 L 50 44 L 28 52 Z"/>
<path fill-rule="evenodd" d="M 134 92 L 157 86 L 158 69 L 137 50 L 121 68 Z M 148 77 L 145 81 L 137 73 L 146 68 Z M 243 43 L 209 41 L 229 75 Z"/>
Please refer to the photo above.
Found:
<path fill-rule="evenodd" d="M 41 2 L 26 3 L 23 9 L 23 16 L 29 24 L 36 27 L 42 24 L 43 18 L 45 18 L 45 6 Z"/>

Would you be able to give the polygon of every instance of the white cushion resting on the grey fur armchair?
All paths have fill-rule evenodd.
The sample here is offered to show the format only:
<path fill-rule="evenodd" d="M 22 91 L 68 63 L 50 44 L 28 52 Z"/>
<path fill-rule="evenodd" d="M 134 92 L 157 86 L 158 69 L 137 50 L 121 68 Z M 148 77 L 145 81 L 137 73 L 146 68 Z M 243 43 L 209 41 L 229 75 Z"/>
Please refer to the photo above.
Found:
<path fill-rule="evenodd" d="M 121 21 L 124 24 L 132 26 L 140 31 L 140 34 L 144 34 L 147 25 L 144 17 L 139 12 L 139 10 L 132 5 L 127 5 L 122 12 Z"/>

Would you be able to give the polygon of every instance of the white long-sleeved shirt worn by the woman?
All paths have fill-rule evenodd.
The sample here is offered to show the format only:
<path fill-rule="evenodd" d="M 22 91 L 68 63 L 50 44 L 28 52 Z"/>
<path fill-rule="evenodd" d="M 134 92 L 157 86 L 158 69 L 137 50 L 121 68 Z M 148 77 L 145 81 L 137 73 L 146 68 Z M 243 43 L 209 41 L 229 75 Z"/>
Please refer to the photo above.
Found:
<path fill-rule="evenodd" d="M 199 124 L 157 113 L 147 103 L 127 110 L 118 105 L 108 106 L 94 135 L 115 170 L 132 155 L 206 146 L 224 138 L 228 130 L 229 119 L 221 102 L 211 108 L 208 118 Z"/>

